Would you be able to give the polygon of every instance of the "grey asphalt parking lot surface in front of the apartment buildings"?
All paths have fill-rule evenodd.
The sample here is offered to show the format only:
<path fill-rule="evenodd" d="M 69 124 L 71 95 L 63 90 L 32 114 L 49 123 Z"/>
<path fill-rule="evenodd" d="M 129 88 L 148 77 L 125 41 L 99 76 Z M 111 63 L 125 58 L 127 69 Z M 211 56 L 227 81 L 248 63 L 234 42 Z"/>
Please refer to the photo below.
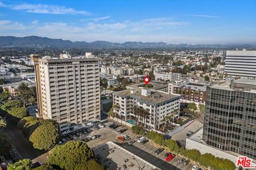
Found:
<path fill-rule="evenodd" d="M 127 143 L 129 141 L 136 139 L 135 135 L 132 134 L 131 129 L 127 128 L 126 126 L 125 127 L 124 126 L 123 127 L 119 126 L 117 129 L 113 130 L 113 129 L 110 129 L 108 127 L 112 123 L 113 122 L 111 122 L 111 121 L 105 123 L 106 127 L 105 128 L 100 128 L 99 130 L 94 130 L 93 128 L 91 128 L 92 132 L 86 133 L 86 134 L 82 133 L 82 135 L 80 137 L 76 137 L 74 135 L 73 140 L 82 140 L 82 139 L 85 139 L 86 137 L 90 137 L 92 135 L 100 135 L 99 138 L 92 139 L 92 140 L 88 141 L 87 145 L 91 148 L 94 148 L 94 147 L 103 145 L 104 143 L 106 143 L 108 141 L 112 141 L 114 143 L 117 143 L 119 146 L 123 147 L 124 149 L 132 152 L 132 154 L 135 154 L 138 157 L 141 157 L 141 158 L 145 159 L 147 162 L 153 164 L 154 166 L 158 167 L 159 169 L 176 169 L 176 170 L 186 169 L 186 170 L 188 170 L 188 169 L 191 169 L 193 167 L 192 164 L 189 164 L 189 165 L 185 166 L 182 163 L 178 163 L 179 157 L 175 157 L 170 162 L 166 162 L 164 155 L 167 152 L 163 151 L 163 152 L 161 152 L 161 154 L 155 155 L 154 152 L 158 148 L 151 145 L 150 142 L 147 142 L 143 145 L 141 143 L 138 143 L 138 142 L 135 142 L 132 145 L 128 145 Z M 121 135 L 120 133 L 118 133 L 118 131 L 121 130 L 121 129 L 124 129 L 124 128 L 128 129 L 128 130 L 125 131 L 122 134 L 128 135 L 130 138 L 127 139 L 124 143 L 122 143 L 117 138 Z M 67 141 L 70 140 L 67 137 L 65 139 Z"/>

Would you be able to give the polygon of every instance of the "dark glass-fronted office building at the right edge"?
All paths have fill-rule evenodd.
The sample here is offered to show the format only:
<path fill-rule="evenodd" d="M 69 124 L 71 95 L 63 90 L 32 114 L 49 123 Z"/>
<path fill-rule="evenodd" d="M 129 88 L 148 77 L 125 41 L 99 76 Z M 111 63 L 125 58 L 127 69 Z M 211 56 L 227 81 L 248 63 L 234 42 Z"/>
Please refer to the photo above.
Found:
<path fill-rule="evenodd" d="M 212 147 L 256 159 L 255 80 L 207 87 L 203 140 Z"/>

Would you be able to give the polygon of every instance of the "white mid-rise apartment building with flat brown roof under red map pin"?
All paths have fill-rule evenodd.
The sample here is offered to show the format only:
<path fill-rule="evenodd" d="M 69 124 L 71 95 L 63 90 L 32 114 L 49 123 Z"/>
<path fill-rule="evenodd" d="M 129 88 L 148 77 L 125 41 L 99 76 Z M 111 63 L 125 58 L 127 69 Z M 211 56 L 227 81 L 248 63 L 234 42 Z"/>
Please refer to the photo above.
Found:
<path fill-rule="evenodd" d="M 149 112 L 146 120 L 139 117 L 139 122 L 144 123 L 152 129 L 158 129 L 165 122 L 165 116 L 174 114 L 174 110 L 180 111 L 180 95 L 154 89 L 135 88 L 113 93 L 113 104 L 119 105 L 119 114 L 127 118 L 133 118 L 133 106 L 146 109 Z M 179 113 L 174 115 L 179 116 Z M 137 116 L 138 117 L 138 116 Z"/>

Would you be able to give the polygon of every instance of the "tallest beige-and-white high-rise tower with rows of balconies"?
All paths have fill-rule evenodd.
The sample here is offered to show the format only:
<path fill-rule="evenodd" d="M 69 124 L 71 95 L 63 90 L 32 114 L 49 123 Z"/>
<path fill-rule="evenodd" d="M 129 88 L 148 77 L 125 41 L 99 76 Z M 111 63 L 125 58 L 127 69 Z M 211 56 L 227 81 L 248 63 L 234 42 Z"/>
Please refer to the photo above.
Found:
<path fill-rule="evenodd" d="M 39 115 L 56 120 L 65 131 L 100 118 L 98 58 L 31 55 L 35 65 Z"/>

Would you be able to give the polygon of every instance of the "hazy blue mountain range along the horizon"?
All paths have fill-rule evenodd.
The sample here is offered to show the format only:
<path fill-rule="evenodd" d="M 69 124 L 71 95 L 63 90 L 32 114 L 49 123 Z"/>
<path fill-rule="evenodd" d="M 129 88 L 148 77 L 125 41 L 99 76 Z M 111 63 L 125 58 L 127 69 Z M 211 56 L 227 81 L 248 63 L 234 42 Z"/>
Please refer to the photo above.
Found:
<path fill-rule="evenodd" d="M 206 45 L 206 44 L 166 44 L 125 42 L 111 43 L 108 41 L 70 41 L 62 39 L 51 39 L 38 36 L 13 37 L 0 36 L 0 47 L 53 47 L 53 48 L 105 48 L 105 49 L 130 49 L 130 48 L 223 48 L 223 47 L 255 47 L 256 43 L 229 44 L 229 45 Z"/>

